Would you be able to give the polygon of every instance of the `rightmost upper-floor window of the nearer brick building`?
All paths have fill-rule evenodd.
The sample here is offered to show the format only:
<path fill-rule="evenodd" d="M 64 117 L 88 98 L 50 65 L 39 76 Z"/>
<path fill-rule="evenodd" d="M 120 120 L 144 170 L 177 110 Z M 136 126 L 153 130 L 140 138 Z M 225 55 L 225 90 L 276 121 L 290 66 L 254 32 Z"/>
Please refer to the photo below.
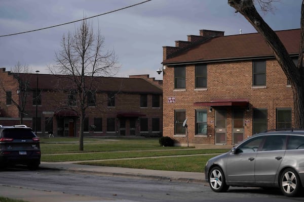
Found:
<path fill-rule="evenodd" d="M 253 61 L 253 86 L 266 85 L 266 62 Z"/>

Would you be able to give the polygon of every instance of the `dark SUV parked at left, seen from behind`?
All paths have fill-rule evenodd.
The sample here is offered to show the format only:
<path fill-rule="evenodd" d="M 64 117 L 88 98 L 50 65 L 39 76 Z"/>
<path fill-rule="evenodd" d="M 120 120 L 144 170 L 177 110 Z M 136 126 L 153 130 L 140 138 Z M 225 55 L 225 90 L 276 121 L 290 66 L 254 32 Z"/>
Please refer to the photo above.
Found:
<path fill-rule="evenodd" d="M 0 166 L 26 165 L 35 170 L 40 165 L 40 139 L 25 125 L 0 125 Z"/>

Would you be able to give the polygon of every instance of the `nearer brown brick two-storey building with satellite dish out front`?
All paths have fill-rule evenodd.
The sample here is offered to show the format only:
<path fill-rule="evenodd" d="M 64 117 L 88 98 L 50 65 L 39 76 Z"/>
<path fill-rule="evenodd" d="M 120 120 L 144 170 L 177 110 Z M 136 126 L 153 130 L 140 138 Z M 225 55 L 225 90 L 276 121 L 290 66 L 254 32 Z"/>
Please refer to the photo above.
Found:
<path fill-rule="evenodd" d="M 276 33 L 297 63 L 300 29 Z M 233 145 L 294 126 L 291 86 L 260 34 L 200 30 L 187 39 L 163 47 L 163 136 Z"/>

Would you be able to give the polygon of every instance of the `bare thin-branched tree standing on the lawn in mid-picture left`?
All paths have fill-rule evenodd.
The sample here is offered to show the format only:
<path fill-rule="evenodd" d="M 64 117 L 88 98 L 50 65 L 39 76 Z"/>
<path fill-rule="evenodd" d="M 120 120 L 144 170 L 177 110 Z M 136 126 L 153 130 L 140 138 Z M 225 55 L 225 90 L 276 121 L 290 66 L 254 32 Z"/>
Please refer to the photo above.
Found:
<path fill-rule="evenodd" d="M 56 53 L 57 65 L 50 68 L 53 74 L 67 75 L 65 78 L 75 88 L 75 93 L 72 93 L 75 102 L 70 107 L 80 114 L 79 150 L 84 150 L 84 120 L 86 109 L 91 105 L 88 96 L 97 91 L 95 78 L 113 76 L 119 68 L 116 66 L 115 52 L 103 52 L 103 47 L 104 37 L 101 36 L 100 30 L 94 34 L 93 26 L 83 20 L 74 33 L 63 35 L 62 49 Z"/>

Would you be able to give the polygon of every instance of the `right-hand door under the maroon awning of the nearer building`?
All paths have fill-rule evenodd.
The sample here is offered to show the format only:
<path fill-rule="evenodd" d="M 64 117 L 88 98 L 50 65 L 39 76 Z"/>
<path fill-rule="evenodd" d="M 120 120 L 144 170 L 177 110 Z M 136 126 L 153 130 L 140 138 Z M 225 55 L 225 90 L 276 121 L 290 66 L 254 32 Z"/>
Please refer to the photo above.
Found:
<path fill-rule="evenodd" d="M 244 110 L 233 110 L 232 143 L 238 144 L 244 139 Z"/>

